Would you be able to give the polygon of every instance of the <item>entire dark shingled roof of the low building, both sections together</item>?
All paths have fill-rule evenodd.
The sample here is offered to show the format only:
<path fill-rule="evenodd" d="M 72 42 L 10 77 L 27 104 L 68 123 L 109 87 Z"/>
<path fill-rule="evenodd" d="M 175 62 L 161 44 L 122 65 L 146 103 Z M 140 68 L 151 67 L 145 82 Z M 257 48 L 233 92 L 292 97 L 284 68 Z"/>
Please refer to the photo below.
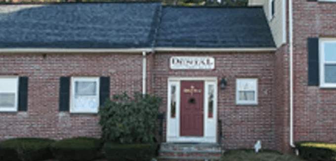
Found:
<path fill-rule="evenodd" d="M 0 14 L 0 29 L 0 48 L 275 47 L 261 7 L 63 3 Z"/>

